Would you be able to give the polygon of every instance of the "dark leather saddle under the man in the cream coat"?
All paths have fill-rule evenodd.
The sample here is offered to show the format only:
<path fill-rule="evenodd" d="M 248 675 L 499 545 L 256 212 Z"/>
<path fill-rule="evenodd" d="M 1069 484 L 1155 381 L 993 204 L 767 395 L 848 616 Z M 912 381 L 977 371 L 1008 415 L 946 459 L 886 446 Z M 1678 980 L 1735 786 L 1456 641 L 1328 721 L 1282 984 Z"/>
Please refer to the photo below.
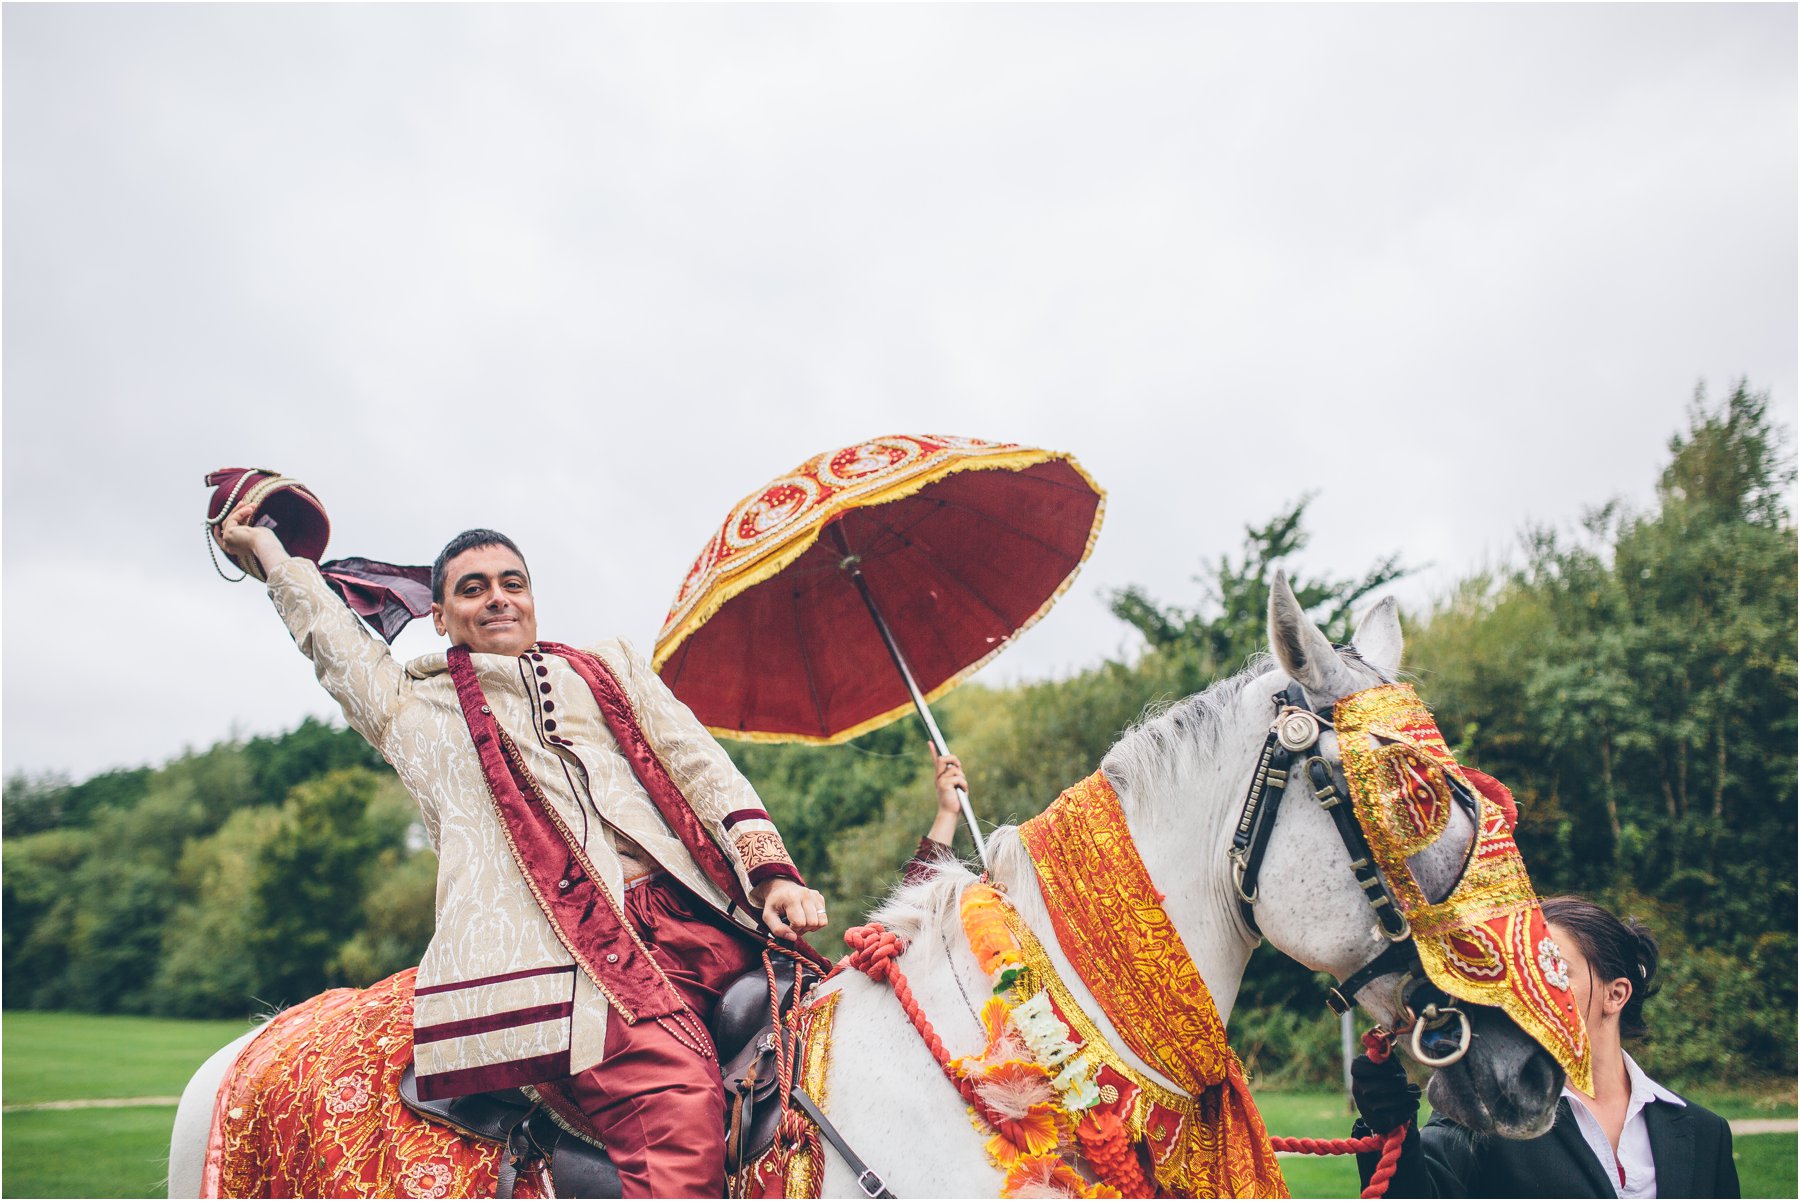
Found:
<path fill-rule="evenodd" d="M 731 981 L 713 1012 L 713 1046 L 725 1082 L 725 1172 L 774 1143 L 783 1097 L 779 1053 L 794 1053 L 787 1016 L 817 981 L 817 972 L 787 956 L 774 958 L 781 1023 L 772 1021 L 769 978 L 761 967 Z M 796 972 L 801 987 L 796 989 Z M 779 1039 L 779 1043 L 778 1043 Z M 792 1086 L 792 1082 L 790 1082 Z M 560 1197 L 617 1197 L 619 1172 L 581 1109 L 556 1084 L 419 1100 L 409 1066 L 400 1100 L 423 1118 L 506 1149 L 499 1197 L 511 1197 L 520 1169 L 544 1163 Z"/>

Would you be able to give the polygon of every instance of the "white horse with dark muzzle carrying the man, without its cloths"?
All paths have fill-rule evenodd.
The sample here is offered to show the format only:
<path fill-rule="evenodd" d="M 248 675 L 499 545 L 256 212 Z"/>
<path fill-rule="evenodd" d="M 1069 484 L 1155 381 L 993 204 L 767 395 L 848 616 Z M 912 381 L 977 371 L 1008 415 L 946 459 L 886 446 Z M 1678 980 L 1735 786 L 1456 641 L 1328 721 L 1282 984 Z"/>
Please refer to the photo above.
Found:
<path fill-rule="evenodd" d="M 1400 666 L 1400 625 L 1384 600 L 1355 630 L 1354 652 L 1339 654 L 1305 616 L 1285 578 L 1269 603 L 1274 664 L 1258 661 L 1240 675 L 1177 702 L 1125 733 L 1102 769 L 1120 796 L 1132 839 L 1165 909 L 1193 956 L 1219 1016 L 1229 1021 L 1244 965 L 1256 938 L 1246 926 L 1229 861 L 1233 826 L 1244 805 L 1273 715 L 1273 697 L 1289 682 L 1328 704 L 1391 682 Z M 1327 727 L 1319 754 L 1336 760 Z M 1046 798 L 1046 801 L 1051 798 Z M 1256 924 L 1280 951 L 1314 971 L 1346 980 L 1388 947 L 1350 855 L 1330 816 L 1318 805 L 1282 805 L 1262 866 Z M 1471 817 L 1456 807 L 1445 834 L 1409 862 L 1427 895 L 1456 882 L 1474 841 Z M 1143 1075 L 1179 1091 L 1143 1062 L 1107 1025 L 1057 945 L 1030 857 L 1013 826 L 988 839 L 990 877 L 1003 884 L 1076 1003 L 1109 1043 Z M 905 972 L 925 1016 L 952 1053 L 981 1052 L 974 998 L 992 990 L 963 938 L 958 898 L 974 877 L 961 866 L 902 888 L 875 913 L 909 942 L 896 967 Z M 1397 976 L 1381 976 L 1357 994 L 1379 1023 L 1399 1026 Z M 1001 1172 L 983 1147 L 963 1100 L 943 1079 L 893 992 L 855 972 L 828 989 L 842 996 L 833 1021 L 826 1111 L 844 1140 L 900 1197 L 999 1196 Z M 1562 1088 L 1562 1070 L 1498 1010 L 1469 1007 L 1469 1052 L 1431 1080 L 1431 1104 L 1471 1129 L 1532 1136 L 1548 1129 Z M 254 1034 L 254 1032 L 252 1032 Z M 176 1113 L 169 1152 L 169 1196 L 196 1196 L 212 1098 L 245 1035 L 189 1082 Z M 862 1196 L 855 1174 L 826 1152 L 826 1197 Z"/>

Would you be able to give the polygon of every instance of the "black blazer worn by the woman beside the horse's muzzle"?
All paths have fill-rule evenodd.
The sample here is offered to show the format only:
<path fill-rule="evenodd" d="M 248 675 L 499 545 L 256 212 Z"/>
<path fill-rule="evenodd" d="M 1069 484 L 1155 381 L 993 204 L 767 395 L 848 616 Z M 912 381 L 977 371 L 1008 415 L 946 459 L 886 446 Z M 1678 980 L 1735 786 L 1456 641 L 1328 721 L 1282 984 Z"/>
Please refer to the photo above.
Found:
<path fill-rule="evenodd" d="M 1658 1197 L 1739 1196 L 1732 1127 L 1724 1118 L 1694 1102 L 1670 1106 L 1652 1100 L 1643 1107 L 1643 1122 L 1656 1158 Z M 1355 1131 L 1368 1133 L 1361 1122 Z M 1379 1158 L 1357 1156 L 1364 1185 Z M 1550 1133 L 1526 1140 L 1483 1138 L 1433 1115 L 1424 1131 L 1408 1131 L 1388 1196 L 1616 1197 L 1616 1183 L 1588 1149 L 1570 1102 L 1562 1098 Z"/>

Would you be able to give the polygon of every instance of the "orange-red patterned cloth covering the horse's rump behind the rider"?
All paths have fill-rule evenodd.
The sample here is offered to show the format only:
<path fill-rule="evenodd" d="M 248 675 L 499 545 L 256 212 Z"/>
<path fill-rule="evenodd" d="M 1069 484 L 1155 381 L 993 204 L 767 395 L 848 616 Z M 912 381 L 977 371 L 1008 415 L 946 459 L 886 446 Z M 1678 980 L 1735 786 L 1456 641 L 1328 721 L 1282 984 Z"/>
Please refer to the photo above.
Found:
<path fill-rule="evenodd" d="M 491 1197 L 500 1147 L 400 1100 L 412 978 L 333 989 L 281 1012 L 225 1077 L 202 1197 Z M 518 1197 L 542 1196 L 531 1172 Z"/>

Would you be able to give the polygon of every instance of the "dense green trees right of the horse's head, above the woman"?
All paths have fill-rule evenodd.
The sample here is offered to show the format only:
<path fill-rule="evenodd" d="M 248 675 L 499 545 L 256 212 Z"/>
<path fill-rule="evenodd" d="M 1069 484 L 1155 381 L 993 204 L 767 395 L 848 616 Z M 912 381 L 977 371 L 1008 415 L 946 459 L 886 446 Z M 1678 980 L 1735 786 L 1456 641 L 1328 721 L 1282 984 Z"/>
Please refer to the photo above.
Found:
<path fill-rule="evenodd" d="M 1514 787 L 1539 891 L 1658 906 L 1703 1052 L 1791 1070 L 1795 472 L 1742 384 L 1669 450 L 1652 508 L 1530 531 L 1413 654 L 1445 735 Z"/>

